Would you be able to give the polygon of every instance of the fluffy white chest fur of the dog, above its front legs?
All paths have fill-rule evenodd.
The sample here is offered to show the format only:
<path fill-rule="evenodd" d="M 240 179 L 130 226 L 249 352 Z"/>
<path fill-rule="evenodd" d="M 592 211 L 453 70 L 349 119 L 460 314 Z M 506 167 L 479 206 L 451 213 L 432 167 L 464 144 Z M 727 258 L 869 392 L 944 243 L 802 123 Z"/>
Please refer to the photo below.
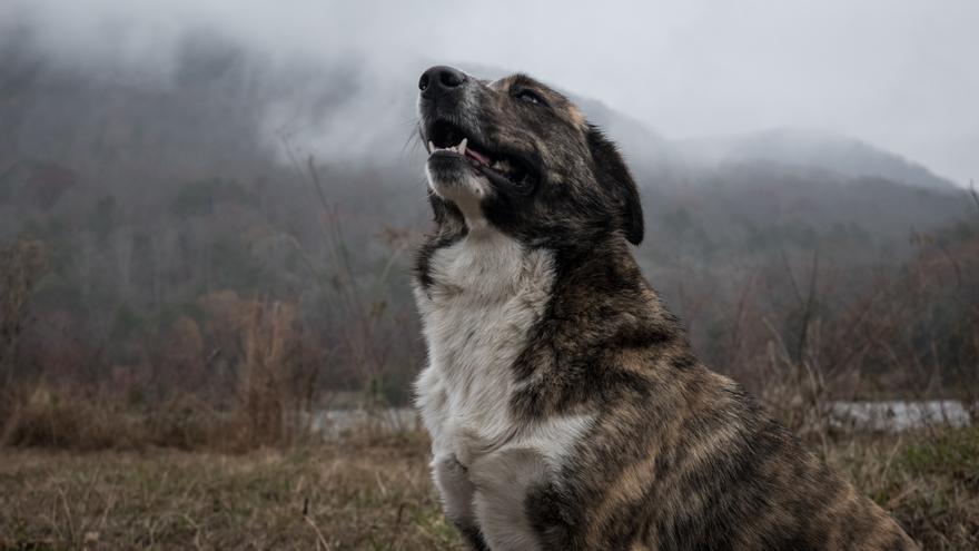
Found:
<path fill-rule="evenodd" d="M 495 230 L 435 253 L 428 292 L 416 291 L 428 367 L 418 406 L 436 453 L 462 432 L 496 441 L 512 431 L 513 364 L 546 307 L 553 262 Z"/>

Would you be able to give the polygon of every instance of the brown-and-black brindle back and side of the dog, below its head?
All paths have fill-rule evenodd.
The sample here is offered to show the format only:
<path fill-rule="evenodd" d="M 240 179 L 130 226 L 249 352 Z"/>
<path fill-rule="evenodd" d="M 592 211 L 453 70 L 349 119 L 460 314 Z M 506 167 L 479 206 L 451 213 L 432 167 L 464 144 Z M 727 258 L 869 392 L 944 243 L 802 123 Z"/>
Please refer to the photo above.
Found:
<path fill-rule="evenodd" d="M 913 548 L 886 512 L 692 356 L 624 240 L 564 277 L 554 317 L 541 322 L 553 325 L 527 354 L 540 383 L 514 402 L 526 417 L 566 414 L 568 404 L 600 413 L 573 460 L 528 492 L 544 549 Z"/>

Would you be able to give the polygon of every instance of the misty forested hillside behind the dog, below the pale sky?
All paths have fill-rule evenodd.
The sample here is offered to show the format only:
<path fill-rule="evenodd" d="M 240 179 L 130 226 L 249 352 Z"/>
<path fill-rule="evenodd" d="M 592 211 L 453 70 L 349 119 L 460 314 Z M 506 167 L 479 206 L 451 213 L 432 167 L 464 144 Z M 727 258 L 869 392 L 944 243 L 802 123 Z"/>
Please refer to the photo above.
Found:
<path fill-rule="evenodd" d="M 276 384 L 404 403 L 424 357 L 413 82 L 206 35 L 181 52 L 160 78 L 0 39 L 3 376 L 220 401 L 281 364 Z M 637 255 L 711 365 L 762 393 L 801 366 L 856 394 L 975 392 L 967 191 L 840 137 L 674 141 L 581 104 L 636 173 Z"/>

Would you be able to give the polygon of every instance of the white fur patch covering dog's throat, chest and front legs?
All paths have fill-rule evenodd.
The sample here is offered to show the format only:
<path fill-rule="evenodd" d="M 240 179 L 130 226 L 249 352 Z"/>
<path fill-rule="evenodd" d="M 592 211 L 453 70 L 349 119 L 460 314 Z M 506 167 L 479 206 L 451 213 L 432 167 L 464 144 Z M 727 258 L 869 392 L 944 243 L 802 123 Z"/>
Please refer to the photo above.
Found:
<path fill-rule="evenodd" d="M 467 223 L 482 218 L 478 203 L 476 210 L 461 209 Z M 469 224 L 466 237 L 434 253 L 429 269 L 433 285 L 415 292 L 429 360 L 416 381 L 417 406 L 432 435 L 433 474 L 446 513 L 475 518 L 488 540 L 506 541 L 507 549 L 533 541 L 528 524 L 513 516 L 523 514 L 533 483 L 527 478 L 557 472 L 593 422 L 575 415 L 527 425 L 510 413 L 518 388 L 513 364 L 547 305 L 553 257 L 486 224 Z M 517 456 L 535 460 L 521 476 L 506 479 L 502 468 L 520 469 Z M 464 476 L 448 466 L 454 460 L 467 470 Z"/>

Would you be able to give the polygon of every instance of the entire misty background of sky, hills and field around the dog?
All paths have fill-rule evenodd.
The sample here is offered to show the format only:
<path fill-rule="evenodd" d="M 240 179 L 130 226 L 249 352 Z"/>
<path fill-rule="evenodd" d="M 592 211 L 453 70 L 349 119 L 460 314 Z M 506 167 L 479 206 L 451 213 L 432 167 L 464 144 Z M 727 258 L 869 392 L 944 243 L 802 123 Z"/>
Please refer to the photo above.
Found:
<path fill-rule="evenodd" d="M 411 409 L 436 63 L 577 101 L 698 357 L 923 549 L 979 549 L 977 23 L 0 0 L 0 549 L 464 549 Z"/>

